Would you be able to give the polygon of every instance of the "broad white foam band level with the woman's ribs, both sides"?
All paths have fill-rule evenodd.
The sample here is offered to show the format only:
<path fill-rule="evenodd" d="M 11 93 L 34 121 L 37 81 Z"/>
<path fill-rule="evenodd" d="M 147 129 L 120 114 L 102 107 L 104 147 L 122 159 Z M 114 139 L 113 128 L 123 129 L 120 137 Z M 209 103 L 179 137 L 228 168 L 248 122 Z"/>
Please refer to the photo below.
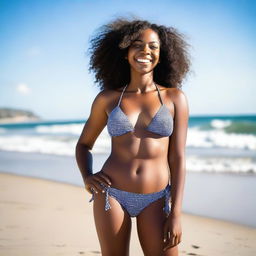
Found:
<path fill-rule="evenodd" d="M 83 125 L 80 124 L 64 125 L 64 127 L 52 126 L 50 128 L 41 126 L 41 128 L 37 128 L 39 135 L 0 134 L 0 149 L 73 155 L 74 148 L 71 146 L 76 144 L 82 127 Z M 60 133 L 60 130 L 62 130 L 62 133 Z M 95 142 L 93 152 L 109 153 L 110 147 L 111 138 L 105 127 Z M 222 130 L 201 131 L 197 128 L 189 128 L 187 147 L 256 150 L 256 136 L 237 133 L 227 134 Z"/>

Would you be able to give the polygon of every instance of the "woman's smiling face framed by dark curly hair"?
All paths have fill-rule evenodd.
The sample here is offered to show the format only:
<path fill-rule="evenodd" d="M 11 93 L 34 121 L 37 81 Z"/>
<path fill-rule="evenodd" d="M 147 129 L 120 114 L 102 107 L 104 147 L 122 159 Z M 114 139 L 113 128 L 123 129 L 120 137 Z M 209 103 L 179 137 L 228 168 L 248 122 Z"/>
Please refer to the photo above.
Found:
<path fill-rule="evenodd" d="M 128 49 L 127 59 L 131 71 L 141 74 L 151 72 L 160 58 L 160 39 L 152 29 L 145 29 L 132 42 Z"/>

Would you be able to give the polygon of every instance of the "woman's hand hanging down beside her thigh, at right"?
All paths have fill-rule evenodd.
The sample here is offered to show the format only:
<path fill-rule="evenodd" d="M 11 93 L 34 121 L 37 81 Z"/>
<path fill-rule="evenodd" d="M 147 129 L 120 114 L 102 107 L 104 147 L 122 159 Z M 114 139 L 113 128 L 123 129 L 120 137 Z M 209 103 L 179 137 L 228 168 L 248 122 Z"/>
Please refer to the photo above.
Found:
<path fill-rule="evenodd" d="M 164 251 L 181 242 L 181 216 L 170 214 L 164 224 Z"/>

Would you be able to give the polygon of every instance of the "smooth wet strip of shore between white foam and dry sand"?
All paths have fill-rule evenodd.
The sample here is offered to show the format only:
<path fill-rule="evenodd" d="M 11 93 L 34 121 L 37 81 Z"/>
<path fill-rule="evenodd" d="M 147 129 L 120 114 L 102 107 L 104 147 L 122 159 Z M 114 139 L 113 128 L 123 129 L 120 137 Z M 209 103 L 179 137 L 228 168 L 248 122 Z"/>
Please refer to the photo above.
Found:
<path fill-rule="evenodd" d="M 107 155 L 95 154 L 93 170 Z M 83 187 L 75 158 L 0 151 L 0 172 Z M 256 175 L 187 172 L 183 211 L 256 228 Z"/>

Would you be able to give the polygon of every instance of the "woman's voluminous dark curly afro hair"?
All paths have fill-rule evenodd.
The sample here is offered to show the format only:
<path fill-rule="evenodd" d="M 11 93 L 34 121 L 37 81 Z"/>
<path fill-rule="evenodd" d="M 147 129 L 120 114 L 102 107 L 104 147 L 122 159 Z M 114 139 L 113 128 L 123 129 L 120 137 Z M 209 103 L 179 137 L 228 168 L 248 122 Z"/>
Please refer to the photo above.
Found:
<path fill-rule="evenodd" d="M 183 35 L 173 27 L 119 18 L 100 27 L 90 40 L 89 70 L 95 73 L 101 90 L 121 88 L 130 82 L 130 66 L 125 56 L 132 42 L 148 28 L 160 39 L 160 63 L 154 68 L 154 81 L 167 88 L 181 87 L 190 66 Z"/>

